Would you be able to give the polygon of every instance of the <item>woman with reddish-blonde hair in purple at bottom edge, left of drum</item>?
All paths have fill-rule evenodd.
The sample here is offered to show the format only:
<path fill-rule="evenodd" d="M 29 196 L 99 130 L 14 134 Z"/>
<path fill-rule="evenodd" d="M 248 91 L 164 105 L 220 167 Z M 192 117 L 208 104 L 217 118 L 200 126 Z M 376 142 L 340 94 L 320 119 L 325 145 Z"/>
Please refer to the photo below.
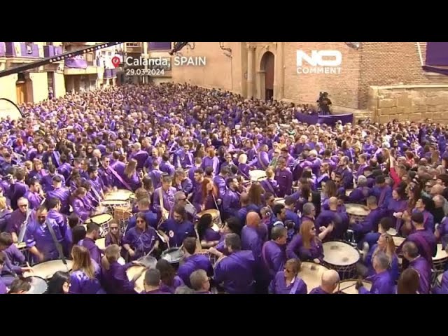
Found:
<path fill-rule="evenodd" d="M 300 260 L 290 259 L 269 284 L 269 294 L 307 294 L 307 284 L 298 275 Z"/>

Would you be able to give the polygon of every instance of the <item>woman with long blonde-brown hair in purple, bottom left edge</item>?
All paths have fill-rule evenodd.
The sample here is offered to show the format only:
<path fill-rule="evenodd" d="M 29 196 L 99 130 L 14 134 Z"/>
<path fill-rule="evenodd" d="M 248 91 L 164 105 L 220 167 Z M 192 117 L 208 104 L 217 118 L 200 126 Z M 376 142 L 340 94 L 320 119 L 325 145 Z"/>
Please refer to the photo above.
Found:
<path fill-rule="evenodd" d="M 73 246 L 73 266 L 70 274 L 69 294 L 104 294 L 100 283 L 101 268 L 90 258 L 84 246 Z"/>

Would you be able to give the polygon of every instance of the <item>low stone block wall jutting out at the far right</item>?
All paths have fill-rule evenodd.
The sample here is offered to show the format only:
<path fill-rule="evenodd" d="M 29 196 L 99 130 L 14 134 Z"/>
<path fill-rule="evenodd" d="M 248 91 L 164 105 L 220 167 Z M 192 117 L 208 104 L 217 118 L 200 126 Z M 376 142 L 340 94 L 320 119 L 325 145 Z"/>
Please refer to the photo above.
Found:
<path fill-rule="evenodd" d="M 393 119 L 435 123 L 448 122 L 448 85 L 371 86 L 368 109 L 372 120 L 388 123 Z"/>

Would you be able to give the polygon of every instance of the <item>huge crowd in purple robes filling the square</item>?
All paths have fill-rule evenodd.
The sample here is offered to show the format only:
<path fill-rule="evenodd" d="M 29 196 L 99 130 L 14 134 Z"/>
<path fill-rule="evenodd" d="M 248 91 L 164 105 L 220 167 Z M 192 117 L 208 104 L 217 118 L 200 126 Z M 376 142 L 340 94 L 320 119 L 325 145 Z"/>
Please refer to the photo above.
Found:
<path fill-rule="evenodd" d="M 339 293 L 328 241 L 360 253 L 357 293 L 448 293 L 433 262 L 448 243 L 446 127 L 304 125 L 303 109 L 165 83 L 1 118 L 0 293 L 32 293 L 50 260 L 66 269 L 45 293 Z M 129 218 L 92 220 L 117 190 L 133 195 Z M 325 266 L 318 283 L 305 263 Z"/>

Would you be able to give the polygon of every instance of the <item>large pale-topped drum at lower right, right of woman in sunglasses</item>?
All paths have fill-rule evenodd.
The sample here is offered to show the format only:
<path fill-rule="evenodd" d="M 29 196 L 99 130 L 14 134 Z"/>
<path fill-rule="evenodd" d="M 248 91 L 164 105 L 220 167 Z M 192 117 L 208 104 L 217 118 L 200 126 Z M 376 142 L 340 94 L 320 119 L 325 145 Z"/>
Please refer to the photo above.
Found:
<path fill-rule="evenodd" d="M 341 279 L 350 279 L 356 275 L 356 262 L 360 255 L 358 250 L 344 241 L 327 241 L 322 244 L 323 262 L 335 269 Z"/>

